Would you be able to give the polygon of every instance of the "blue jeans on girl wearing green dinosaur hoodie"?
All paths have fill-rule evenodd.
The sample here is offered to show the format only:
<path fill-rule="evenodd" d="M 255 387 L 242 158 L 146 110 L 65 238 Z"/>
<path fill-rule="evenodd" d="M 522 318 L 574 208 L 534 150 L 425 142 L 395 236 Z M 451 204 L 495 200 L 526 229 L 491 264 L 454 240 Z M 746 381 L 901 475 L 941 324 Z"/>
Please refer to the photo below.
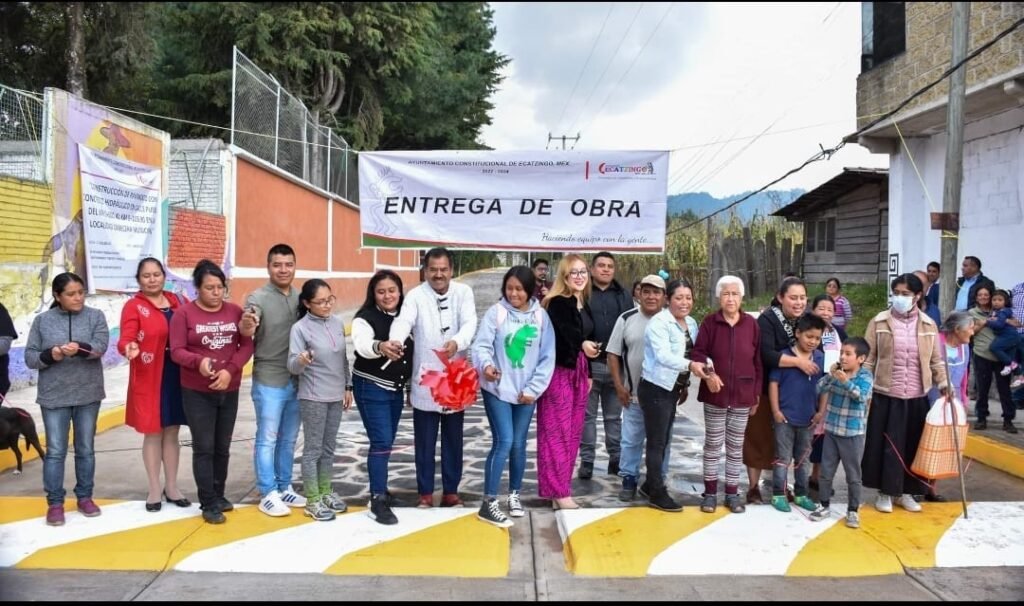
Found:
<path fill-rule="evenodd" d="M 526 471 L 526 434 L 534 420 L 532 404 L 506 402 L 489 391 L 483 391 L 483 408 L 490 423 L 490 451 L 483 468 L 483 495 L 498 496 L 505 462 L 509 463 L 509 490 L 522 488 Z"/>

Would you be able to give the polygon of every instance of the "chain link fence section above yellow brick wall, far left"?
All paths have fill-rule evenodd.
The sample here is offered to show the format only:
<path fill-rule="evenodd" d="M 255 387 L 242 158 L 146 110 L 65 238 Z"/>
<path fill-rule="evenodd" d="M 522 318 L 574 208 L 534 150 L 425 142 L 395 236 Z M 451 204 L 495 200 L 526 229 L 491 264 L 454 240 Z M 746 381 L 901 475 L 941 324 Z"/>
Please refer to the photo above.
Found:
<path fill-rule="evenodd" d="M 46 181 L 43 97 L 0 84 L 0 175 Z"/>

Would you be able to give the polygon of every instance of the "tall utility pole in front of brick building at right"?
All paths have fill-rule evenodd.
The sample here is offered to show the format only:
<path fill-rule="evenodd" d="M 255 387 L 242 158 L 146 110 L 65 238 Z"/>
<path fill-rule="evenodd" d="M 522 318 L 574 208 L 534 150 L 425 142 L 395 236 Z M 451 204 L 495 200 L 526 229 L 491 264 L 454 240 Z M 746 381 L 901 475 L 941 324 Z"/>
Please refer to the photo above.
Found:
<path fill-rule="evenodd" d="M 952 3 L 952 62 L 967 56 L 971 3 Z M 942 187 L 942 213 L 933 213 L 932 229 L 940 230 L 942 267 L 945 276 L 939 284 L 939 309 L 948 313 L 956 305 L 956 248 L 959 243 L 959 202 L 964 182 L 964 97 L 967 91 L 967 66 L 949 77 L 949 101 L 946 114 L 946 173 Z"/>

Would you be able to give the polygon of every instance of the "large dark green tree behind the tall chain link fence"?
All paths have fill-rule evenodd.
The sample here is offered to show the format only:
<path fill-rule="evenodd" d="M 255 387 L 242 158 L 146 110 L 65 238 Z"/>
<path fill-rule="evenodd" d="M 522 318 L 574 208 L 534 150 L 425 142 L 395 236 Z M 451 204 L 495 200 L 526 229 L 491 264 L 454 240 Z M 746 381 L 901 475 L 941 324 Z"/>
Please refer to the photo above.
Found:
<path fill-rule="evenodd" d="M 162 31 L 158 113 L 226 124 L 238 45 L 356 148 L 475 142 L 507 62 L 482 3 L 178 3 Z"/>

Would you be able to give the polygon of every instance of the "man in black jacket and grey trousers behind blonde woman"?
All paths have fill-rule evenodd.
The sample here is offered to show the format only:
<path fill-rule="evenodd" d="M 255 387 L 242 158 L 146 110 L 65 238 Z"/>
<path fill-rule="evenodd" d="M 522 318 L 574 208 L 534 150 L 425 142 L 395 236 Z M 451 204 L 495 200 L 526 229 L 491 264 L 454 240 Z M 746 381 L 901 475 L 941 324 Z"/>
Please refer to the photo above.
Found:
<path fill-rule="evenodd" d="M 600 353 L 590 361 L 593 384 L 587 415 L 583 423 L 583 437 L 580 440 L 580 479 L 589 480 L 594 475 L 594 460 L 597 454 L 597 412 L 601 408 L 604 418 L 604 445 L 608 450 L 608 475 L 618 475 L 618 441 L 623 429 L 623 406 L 615 393 L 615 386 L 608 373 L 604 344 L 611 337 L 615 320 L 629 309 L 633 309 L 633 293 L 615 280 L 615 258 L 602 251 L 594 255 L 590 262 L 590 277 L 593 290 L 590 294 L 590 311 L 594 318 L 594 341 L 600 345 Z"/>

